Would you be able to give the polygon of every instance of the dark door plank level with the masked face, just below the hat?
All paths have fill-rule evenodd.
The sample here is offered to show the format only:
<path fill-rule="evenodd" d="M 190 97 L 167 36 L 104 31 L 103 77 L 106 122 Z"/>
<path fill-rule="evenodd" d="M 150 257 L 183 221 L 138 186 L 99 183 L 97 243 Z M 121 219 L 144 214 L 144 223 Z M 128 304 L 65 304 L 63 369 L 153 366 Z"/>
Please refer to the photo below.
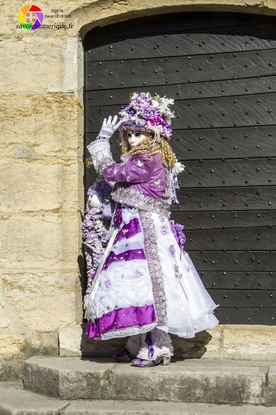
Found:
<path fill-rule="evenodd" d="M 103 118 L 102 118 L 103 120 Z M 98 130 L 99 131 L 99 130 Z M 97 132 L 86 133 L 86 145 L 95 140 Z M 120 138 L 115 133 L 112 151 L 120 160 Z M 230 127 L 216 129 L 174 130 L 169 141 L 179 160 L 214 160 L 218 158 L 258 158 L 276 156 L 276 133 L 273 126 Z M 187 172 L 187 168 L 186 168 Z"/>

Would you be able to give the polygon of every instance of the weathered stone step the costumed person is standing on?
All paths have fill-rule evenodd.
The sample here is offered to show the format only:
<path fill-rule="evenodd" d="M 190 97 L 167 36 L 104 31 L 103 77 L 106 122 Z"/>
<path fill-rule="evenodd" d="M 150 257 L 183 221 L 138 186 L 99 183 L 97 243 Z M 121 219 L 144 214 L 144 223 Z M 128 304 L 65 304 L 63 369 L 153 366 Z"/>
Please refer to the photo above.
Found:
<path fill-rule="evenodd" d="M 276 362 L 174 360 L 140 368 L 111 359 L 34 356 L 24 387 L 62 398 L 276 406 Z"/>

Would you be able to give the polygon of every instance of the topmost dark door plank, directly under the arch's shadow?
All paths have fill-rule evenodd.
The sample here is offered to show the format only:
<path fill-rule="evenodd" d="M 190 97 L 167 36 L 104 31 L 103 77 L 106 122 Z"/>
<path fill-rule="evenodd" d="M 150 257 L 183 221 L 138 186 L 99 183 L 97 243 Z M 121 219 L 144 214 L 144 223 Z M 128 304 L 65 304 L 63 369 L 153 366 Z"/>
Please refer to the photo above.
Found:
<path fill-rule="evenodd" d="M 96 41 L 86 62 L 115 59 L 193 56 L 275 48 L 275 40 L 220 33 L 170 33 L 143 37 L 115 37 Z"/>

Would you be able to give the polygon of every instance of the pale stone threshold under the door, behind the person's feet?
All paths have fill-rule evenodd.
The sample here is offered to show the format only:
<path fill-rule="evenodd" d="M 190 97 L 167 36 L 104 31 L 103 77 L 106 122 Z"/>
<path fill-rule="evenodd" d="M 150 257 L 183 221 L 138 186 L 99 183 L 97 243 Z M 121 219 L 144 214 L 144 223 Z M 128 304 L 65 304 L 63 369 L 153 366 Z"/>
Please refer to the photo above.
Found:
<path fill-rule="evenodd" d="M 78 324 L 59 331 L 60 356 L 111 358 L 127 342 L 126 338 L 104 341 L 87 339 L 84 335 L 85 325 Z M 171 335 L 171 338 L 175 358 L 268 361 L 275 360 L 274 332 L 275 327 L 271 326 L 224 326 L 221 324 L 215 329 L 197 333 L 192 339 L 178 338 L 176 335 Z M 261 347 L 258 347 L 258 344 Z"/>

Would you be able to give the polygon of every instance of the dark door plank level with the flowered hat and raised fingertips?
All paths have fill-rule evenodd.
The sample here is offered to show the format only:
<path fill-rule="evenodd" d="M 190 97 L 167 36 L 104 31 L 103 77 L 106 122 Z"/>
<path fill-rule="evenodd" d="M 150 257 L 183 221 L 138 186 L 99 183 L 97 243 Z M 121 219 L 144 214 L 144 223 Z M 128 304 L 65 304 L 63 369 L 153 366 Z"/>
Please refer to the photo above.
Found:
<path fill-rule="evenodd" d="M 275 125 L 276 93 L 223 97 L 208 99 L 179 100 L 174 105 L 176 118 L 173 129 L 199 129 L 221 127 L 245 127 Z M 120 107 L 89 107 L 86 109 L 86 131 L 98 131 L 102 120 L 115 115 Z"/>

